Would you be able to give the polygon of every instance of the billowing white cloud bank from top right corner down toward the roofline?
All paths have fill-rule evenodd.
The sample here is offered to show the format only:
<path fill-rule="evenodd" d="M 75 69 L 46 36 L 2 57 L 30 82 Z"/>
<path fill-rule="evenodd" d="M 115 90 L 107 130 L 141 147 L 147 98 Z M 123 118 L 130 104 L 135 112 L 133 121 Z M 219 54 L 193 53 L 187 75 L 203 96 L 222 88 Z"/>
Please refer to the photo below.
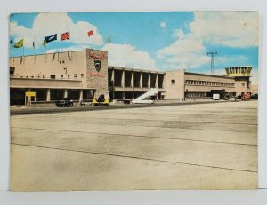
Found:
<path fill-rule="evenodd" d="M 189 33 L 174 29 L 176 41 L 157 51 L 158 58 L 166 60 L 169 67 L 198 68 L 208 66 L 206 44 L 230 47 L 258 45 L 257 12 L 195 12 L 189 23 Z M 217 57 L 215 57 L 217 58 Z M 218 59 L 221 61 L 230 58 Z"/>

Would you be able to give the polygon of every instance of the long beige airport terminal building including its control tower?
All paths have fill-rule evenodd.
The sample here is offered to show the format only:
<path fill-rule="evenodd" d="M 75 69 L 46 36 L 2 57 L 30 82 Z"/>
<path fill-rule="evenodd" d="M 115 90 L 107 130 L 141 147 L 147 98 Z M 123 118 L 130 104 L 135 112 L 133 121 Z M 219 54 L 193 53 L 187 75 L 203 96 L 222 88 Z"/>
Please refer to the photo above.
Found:
<path fill-rule="evenodd" d="M 138 59 L 137 59 L 138 60 Z M 10 103 L 23 105 L 26 92 L 35 103 L 53 103 L 69 97 L 77 101 L 100 95 L 134 99 L 151 88 L 158 99 L 211 98 L 213 93 L 239 95 L 251 92 L 252 67 L 228 67 L 226 75 L 204 75 L 184 70 L 159 72 L 112 67 L 108 52 L 93 49 L 10 58 Z"/>

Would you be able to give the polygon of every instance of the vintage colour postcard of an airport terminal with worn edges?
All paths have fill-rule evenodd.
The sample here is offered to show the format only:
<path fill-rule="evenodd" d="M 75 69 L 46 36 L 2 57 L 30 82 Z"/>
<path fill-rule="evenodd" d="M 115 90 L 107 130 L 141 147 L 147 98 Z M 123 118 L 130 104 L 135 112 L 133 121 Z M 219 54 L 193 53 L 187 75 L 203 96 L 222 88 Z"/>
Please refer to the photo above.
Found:
<path fill-rule="evenodd" d="M 258 20 L 12 13 L 11 190 L 256 189 Z"/>

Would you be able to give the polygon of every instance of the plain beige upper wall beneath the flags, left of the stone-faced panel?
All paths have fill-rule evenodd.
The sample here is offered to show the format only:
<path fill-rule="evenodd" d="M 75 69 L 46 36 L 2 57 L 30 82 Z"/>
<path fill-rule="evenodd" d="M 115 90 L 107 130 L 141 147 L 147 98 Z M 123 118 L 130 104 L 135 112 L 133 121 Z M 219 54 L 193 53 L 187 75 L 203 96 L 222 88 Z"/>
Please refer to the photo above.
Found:
<path fill-rule="evenodd" d="M 36 79 L 80 79 L 86 88 L 85 51 L 47 53 L 10 58 L 13 75 Z"/>

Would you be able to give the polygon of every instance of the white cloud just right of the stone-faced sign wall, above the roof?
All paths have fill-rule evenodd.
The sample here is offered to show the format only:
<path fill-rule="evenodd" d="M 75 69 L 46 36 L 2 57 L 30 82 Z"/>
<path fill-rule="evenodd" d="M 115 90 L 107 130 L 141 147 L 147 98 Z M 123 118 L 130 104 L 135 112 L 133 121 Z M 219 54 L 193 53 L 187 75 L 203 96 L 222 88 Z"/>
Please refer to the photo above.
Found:
<path fill-rule="evenodd" d="M 148 52 L 138 51 L 132 45 L 108 43 L 101 50 L 109 52 L 109 65 L 157 69 L 155 60 L 150 58 Z"/>

